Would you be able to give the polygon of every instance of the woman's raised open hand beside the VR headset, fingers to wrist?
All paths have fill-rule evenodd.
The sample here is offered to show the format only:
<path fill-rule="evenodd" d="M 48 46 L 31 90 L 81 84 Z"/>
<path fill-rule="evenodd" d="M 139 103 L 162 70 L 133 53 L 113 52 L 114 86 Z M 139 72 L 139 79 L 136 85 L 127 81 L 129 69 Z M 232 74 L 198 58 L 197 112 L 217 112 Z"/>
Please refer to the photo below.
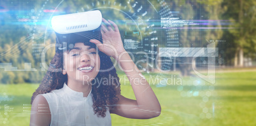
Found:
<path fill-rule="evenodd" d="M 111 20 L 107 21 L 103 18 L 103 23 L 106 25 L 101 24 L 103 43 L 96 39 L 91 39 L 90 42 L 95 43 L 101 52 L 117 59 L 120 53 L 125 52 L 119 29 Z"/>

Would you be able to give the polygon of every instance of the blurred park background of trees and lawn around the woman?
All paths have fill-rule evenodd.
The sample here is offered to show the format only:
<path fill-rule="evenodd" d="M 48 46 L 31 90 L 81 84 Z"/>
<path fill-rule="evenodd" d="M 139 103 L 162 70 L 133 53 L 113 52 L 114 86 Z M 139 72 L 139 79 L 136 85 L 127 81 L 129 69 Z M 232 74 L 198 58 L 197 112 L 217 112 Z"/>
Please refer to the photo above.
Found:
<path fill-rule="evenodd" d="M 55 43 L 52 16 L 89 10 L 101 10 L 104 18 L 117 23 L 125 48 L 135 55 L 134 62 L 147 58 L 136 52 L 148 53 L 150 63 L 138 67 L 152 80 L 162 106 L 161 115 L 148 120 L 111 115 L 113 125 L 256 125 L 253 0 L 1 0 L 0 125 L 29 125 L 31 96 L 46 73 L 41 52 Z M 171 22 L 167 24 L 166 19 Z M 212 44 L 217 53 L 213 62 L 207 56 L 156 59 L 154 53 L 166 47 Z M 46 52 L 48 66 L 54 53 L 55 48 Z M 116 68 L 123 78 L 122 95 L 135 99 L 125 74 Z M 213 81 L 207 79 L 209 74 Z M 163 78 L 171 79 L 163 84 Z M 181 85 L 174 79 L 180 79 Z"/>

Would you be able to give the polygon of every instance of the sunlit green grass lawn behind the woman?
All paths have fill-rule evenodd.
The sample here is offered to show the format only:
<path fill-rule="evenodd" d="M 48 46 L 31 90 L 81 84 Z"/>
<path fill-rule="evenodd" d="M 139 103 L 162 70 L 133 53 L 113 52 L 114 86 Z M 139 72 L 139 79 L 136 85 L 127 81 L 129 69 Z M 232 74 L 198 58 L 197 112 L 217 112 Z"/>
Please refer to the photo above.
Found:
<path fill-rule="evenodd" d="M 159 75 L 150 74 L 151 79 Z M 122 95 L 134 99 L 131 85 L 128 81 L 124 83 L 124 73 L 118 72 L 118 75 L 123 78 Z M 144 75 L 150 80 L 149 74 Z M 256 125 L 256 72 L 217 73 L 216 77 L 213 85 L 196 77 L 181 78 L 182 87 L 157 87 L 159 81 L 155 81 L 151 87 L 162 106 L 161 115 L 148 120 L 111 115 L 112 125 Z M 193 85 L 195 80 L 200 81 L 199 85 Z M 211 85 L 214 90 L 209 88 Z M 38 84 L 27 83 L 0 85 L 0 125 L 29 125 L 30 108 L 25 104 L 30 104 L 37 87 Z M 204 102 L 203 98 L 208 101 Z M 4 111 L 8 106 L 9 111 Z M 203 113 L 203 109 L 208 110 L 207 113 Z"/>

